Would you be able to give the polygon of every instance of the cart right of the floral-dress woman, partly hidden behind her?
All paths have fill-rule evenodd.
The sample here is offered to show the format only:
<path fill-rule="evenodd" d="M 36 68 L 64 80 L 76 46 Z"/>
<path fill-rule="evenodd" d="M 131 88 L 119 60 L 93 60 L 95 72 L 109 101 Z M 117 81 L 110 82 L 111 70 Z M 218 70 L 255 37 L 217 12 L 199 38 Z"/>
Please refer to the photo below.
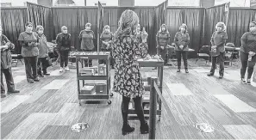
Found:
<path fill-rule="evenodd" d="M 163 72 L 164 72 L 164 60 L 162 59 L 148 59 L 144 60 L 142 58 L 137 60 L 140 67 L 157 67 L 158 68 L 158 85 L 160 92 L 162 93 L 162 85 L 163 85 Z M 148 77 L 147 77 L 148 78 Z M 143 79 L 143 82 L 147 82 L 147 78 Z M 147 82 L 147 85 L 144 85 L 145 91 L 150 90 L 150 85 L 148 85 L 149 82 Z M 149 95 L 149 94 L 145 94 Z M 161 110 L 162 110 L 162 103 L 161 100 L 159 99 L 158 96 L 158 110 L 157 110 L 157 115 L 159 115 L 159 121 L 161 119 Z M 142 104 L 149 104 L 149 99 L 148 100 L 142 100 Z M 128 114 L 136 114 L 134 108 L 128 110 Z M 149 109 L 144 108 L 144 114 L 149 114 Z"/>

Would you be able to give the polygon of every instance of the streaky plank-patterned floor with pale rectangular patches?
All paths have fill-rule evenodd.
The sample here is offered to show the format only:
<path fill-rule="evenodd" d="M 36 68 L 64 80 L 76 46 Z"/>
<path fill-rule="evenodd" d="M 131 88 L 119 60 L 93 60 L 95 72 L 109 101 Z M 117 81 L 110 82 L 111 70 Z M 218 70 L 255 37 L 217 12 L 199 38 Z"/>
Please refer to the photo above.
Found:
<path fill-rule="evenodd" d="M 163 96 L 171 109 L 163 107 L 157 122 L 158 139 L 256 139 L 256 88 L 240 83 L 240 70 L 228 66 L 224 79 L 206 76 L 209 65 L 190 61 L 190 73 L 176 72 L 175 66 L 164 69 Z M 16 88 L 20 94 L 1 99 L 1 139 L 146 139 L 141 135 L 139 120 L 129 124 L 135 131 L 121 135 L 120 94 L 112 104 L 78 105 L 76 70 L 59 74 L 59 66 L 50 68 L 51 76 L 28 84 L 24 66 L 13 67 Z M 143 69 L 143 76 L 156 76 L 156 71 Z M 113 74 L 113 71 L 111 71 Z M 88 123 L 88 131 L 76 133 L 71 126 Z M 197 123 L 208 123 L 212 133 L 197 131 Z"/>

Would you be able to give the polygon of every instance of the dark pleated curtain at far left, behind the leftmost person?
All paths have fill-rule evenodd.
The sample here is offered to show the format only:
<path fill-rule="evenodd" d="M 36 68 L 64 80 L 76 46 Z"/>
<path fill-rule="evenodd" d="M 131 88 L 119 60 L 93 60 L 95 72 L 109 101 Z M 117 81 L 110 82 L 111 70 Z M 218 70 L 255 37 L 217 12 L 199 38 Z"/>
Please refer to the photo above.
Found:
<path fill-rule="evenodd" d="M 3 34 L 15 44 L 15 53 L 21 53 L 18 37 L 25 31 L 27 21 L 27 8 L 1 8 L 1 24 Z"/>

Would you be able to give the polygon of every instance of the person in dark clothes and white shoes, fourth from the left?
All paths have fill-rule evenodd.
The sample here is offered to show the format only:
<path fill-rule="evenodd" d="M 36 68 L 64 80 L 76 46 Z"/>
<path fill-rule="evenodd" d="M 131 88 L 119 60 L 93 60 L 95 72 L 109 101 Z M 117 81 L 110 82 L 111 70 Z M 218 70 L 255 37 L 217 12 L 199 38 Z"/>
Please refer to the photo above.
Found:
<path fill-rule="evenodd" d="M 71 51 L 71 34 L 67 33 L 67 27 L 61 27 L 61 33 L 56 37 L 57 48 L 60 55 L 60 69 L 59 72 L 63 70 L 69 71 L 67 66 L 68 64 L 68 55 Z"/>

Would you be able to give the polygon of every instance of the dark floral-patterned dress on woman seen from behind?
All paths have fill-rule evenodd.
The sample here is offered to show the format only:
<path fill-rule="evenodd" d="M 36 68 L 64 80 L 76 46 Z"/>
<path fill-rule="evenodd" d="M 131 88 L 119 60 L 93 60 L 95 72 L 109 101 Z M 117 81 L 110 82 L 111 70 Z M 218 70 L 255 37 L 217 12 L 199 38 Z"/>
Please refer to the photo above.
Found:
<path fill-rule="evenodd" d="M 125 35 L 114 39 L 113 58 L 116 62 L 114 91 L 130 98 L 145 93 L 136 58 L 145 58 L 147 56 L 146 49 L 146 47 L 139 46 L 134 35 Z"/>

